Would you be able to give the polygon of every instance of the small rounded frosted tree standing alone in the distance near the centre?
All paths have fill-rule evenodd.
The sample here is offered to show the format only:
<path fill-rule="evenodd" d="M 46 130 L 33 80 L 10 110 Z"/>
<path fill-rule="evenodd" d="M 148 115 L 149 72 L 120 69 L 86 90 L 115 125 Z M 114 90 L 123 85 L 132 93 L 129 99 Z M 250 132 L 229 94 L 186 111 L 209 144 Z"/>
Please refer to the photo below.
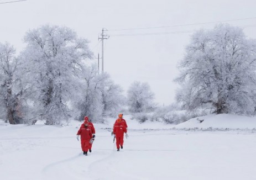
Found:
<path fill-rule="evenodd" d="M 129 110 L 133 113 L 150 112 L 156 107 L 155 94 L 148 83 L 133 82 L 127 91 L 127 98 Z"/>

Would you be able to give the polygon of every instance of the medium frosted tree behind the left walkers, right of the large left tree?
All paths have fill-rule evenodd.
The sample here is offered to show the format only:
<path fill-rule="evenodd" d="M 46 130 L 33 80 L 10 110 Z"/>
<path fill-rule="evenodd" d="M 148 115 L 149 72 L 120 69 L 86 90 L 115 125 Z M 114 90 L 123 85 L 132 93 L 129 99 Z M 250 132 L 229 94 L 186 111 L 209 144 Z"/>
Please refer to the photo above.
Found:
<path fill-rule="evenodd" d="M 113 115 L 124 103 L 122 89 L 114 84 L 107 73 L 98 74 L 97 67 L 92 65 L 83 70 L 81 98 L 76 103 L 79 109 L 79 120 L 88 116 L 91 121 L 103 122 L 103 116 Z"/>

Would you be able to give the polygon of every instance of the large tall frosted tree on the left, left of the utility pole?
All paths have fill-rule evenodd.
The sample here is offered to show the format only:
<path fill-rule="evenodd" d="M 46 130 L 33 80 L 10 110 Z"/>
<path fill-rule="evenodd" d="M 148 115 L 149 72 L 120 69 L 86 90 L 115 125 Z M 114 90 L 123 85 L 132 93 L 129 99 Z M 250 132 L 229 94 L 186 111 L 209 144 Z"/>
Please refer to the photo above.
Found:
<path fill-rule="evenodd" d="M 44 114 L 46 124 L 60 124 L 70 116 L 67 102 L 79 88 L 83 60 L 92 57 L 88 41 L 70 28 L 50 25 L 29 30 L 24 40 L 24 76 L 34 106 Z"/>

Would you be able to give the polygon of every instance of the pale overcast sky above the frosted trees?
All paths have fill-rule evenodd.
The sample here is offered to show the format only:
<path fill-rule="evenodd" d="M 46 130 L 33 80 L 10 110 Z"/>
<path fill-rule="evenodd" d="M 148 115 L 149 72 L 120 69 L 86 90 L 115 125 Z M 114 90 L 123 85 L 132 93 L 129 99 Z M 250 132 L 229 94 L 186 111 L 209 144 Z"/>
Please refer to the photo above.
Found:
<path fill-rule="evenodd" d="M 160 105 L 174 102 L 177 84 L 173 79 L 179 73 L 176 65 L 194 30 L 212 29 L 217 23 L 211 22 L 241 27 L 252 25 L 243 27 L 244 33 L 248 38 L 256 38 L 255 0 L 27 0 L 4 3 L 10 1 L 15 0 L 0 0 L 1 43 L 7 41 L 19 52 L 25 46 L 23 37 L 29 29 L 45 24 L 65 25 L 90 40 L 95 56 L 98 52 L 101 56 L 98 35 L 106 28 L 110 36 L 105 40 L 104 71 L 125 92 L 134 81 L 149 83 Z M 151 34 L 145 35 L 148 33 Z M 120 34 L 122 36 L 114 36 Z"/>

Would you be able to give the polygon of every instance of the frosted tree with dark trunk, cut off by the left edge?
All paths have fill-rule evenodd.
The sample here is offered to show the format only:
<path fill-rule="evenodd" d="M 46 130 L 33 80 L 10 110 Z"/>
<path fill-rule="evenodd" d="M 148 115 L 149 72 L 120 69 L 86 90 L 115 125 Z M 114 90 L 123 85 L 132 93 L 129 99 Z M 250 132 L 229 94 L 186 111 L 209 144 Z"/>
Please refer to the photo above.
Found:
<path fill-rule="evenodd" d="M 0 43 L 0 109 L 10 124 L 22 123 L 22 89 L 17 76 L 19 59 L 9 43 Z"/>

